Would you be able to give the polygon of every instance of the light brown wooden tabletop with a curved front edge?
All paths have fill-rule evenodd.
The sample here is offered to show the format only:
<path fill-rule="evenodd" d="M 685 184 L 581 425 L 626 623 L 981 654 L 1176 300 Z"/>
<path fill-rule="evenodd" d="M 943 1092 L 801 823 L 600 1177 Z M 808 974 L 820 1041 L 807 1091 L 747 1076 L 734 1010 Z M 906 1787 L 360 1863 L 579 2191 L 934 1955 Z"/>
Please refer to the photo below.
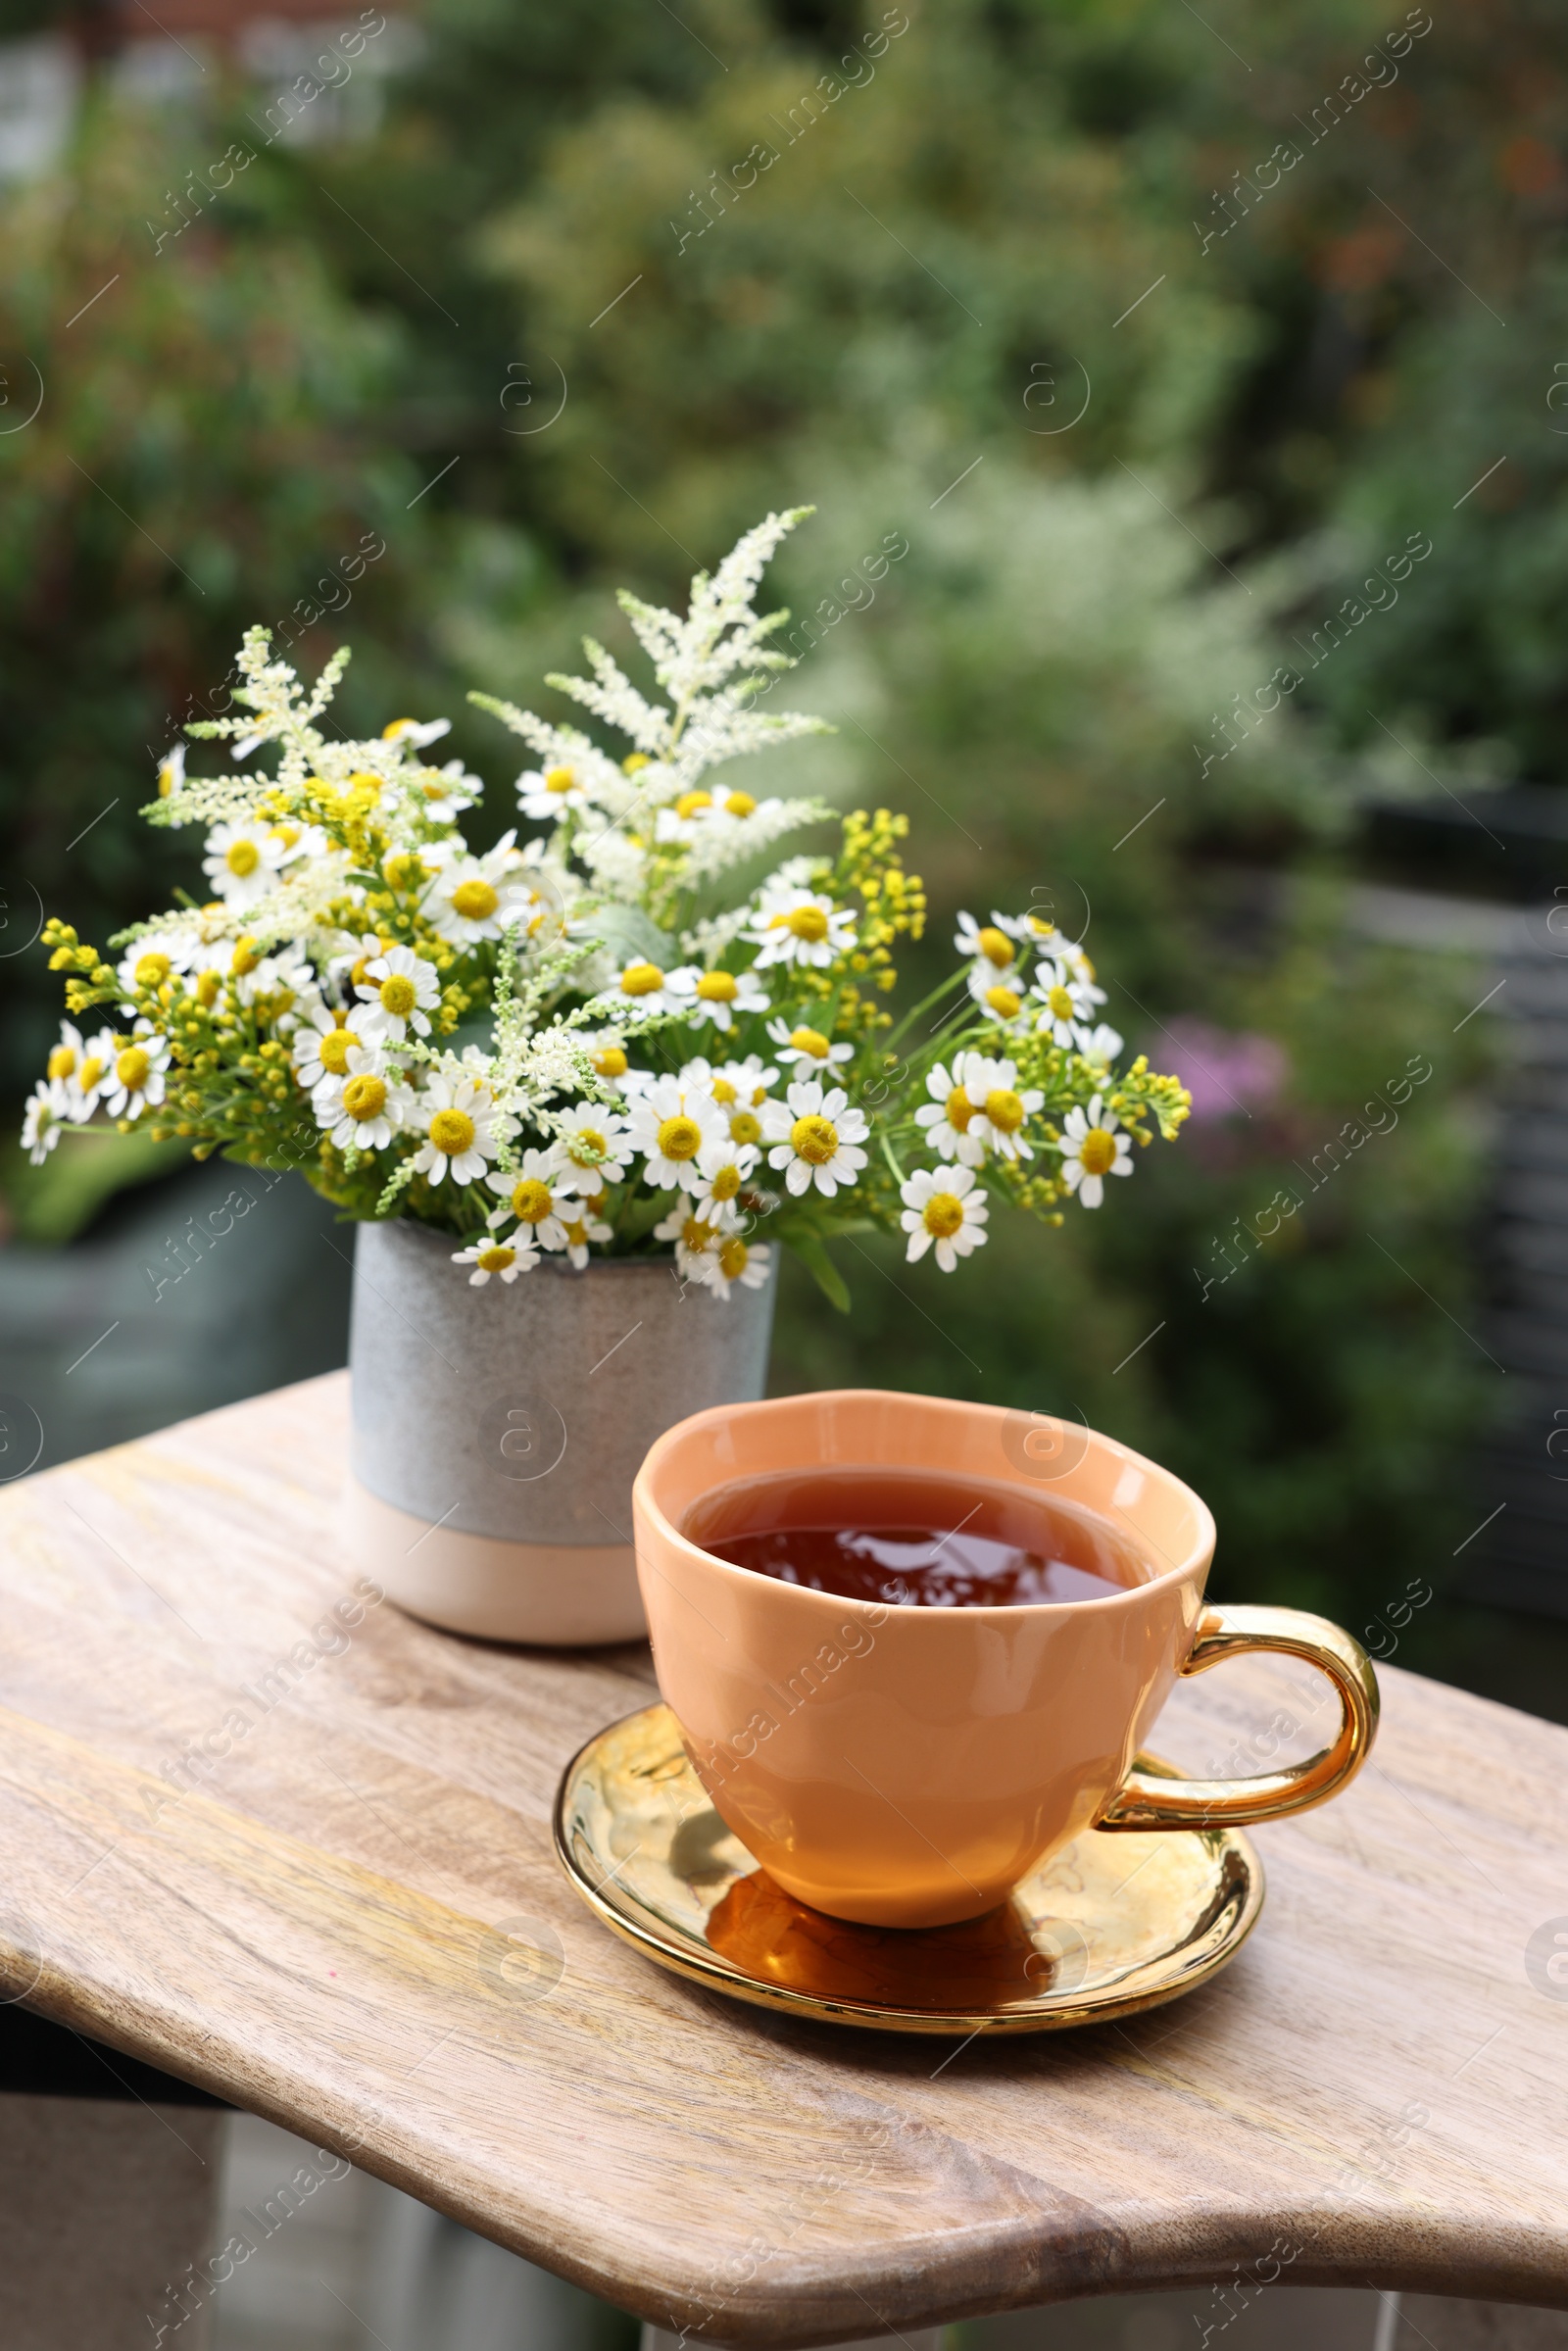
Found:
<path fill-rule="evenodd" d="M 1279 2276 L 1568 2306 L 1568 1733 L 1394 1667 L 1194 1996 L 964 2048 L 802 2027 L 559 1876 L 559 1770 L 646 1653 L 362 1608 L 343 1462 L 334 1375 L 0 1491 L 12 1994 L 703 2342 Z M 1260 1759 L 1298 1688 L 1222 1667 L 1161 1744 Z"/>

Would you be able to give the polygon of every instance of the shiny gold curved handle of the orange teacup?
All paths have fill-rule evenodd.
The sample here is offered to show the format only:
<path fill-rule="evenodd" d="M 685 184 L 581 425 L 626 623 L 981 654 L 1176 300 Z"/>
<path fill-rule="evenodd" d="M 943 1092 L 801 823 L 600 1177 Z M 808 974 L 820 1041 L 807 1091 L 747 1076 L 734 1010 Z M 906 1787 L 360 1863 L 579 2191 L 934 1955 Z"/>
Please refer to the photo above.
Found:
<path fill-rule="evenodd" d="M 1251 1820 L 1305 1813 L 1335 1796 L 1366 1763 L 1378 1735 L 1378 1676 L 1359 1641 L 1302 1608 L 1204 1608 L 1182 1674 L 1206 1674 L 1248 1648 L 1305 1657 L 1340 1695 L 1340 1728 L 1328 1747 L 1286 1770 L 1248 1780 L 1178 1780 L 1133 1768 L 1100 1820 L 1103 1829 L 1241 1829 Z"/>

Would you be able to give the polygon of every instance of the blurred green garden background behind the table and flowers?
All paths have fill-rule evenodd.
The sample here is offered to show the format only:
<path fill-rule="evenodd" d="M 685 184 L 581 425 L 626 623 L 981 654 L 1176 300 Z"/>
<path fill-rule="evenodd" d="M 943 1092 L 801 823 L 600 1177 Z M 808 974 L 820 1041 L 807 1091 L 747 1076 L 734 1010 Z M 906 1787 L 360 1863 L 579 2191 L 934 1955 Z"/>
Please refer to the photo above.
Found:
<path fill-rule="evenodd" d="M 1222 1596 L 1568 1716 L 1547 0 L 7 0 L 0 38 L 16 1114 L 38 912 L 103 938 L 197 882 L 136 806 L 249 623 L 353 644 L 350 731 L 449 715 L 494 837 L 468 689 L 557 708 L 583 628 L 625 651 L 616 583 L 679 600 L 811 503 L 771 602 L 839 731 L 797 781 L 910 813 L 933 969 L 959 907 L 1086 924 L 1194 1117 L 952 1279 L 842 1246 L 849 1319 L 792 1270 L 776 1385 L 1081 1413 L 1204 1491 Z M 181 1255 L 223 1183 L 5 1147 L 9 1467 L 28 1411 L 61 1458 L 343 1359 L 294 1178 Z"/>

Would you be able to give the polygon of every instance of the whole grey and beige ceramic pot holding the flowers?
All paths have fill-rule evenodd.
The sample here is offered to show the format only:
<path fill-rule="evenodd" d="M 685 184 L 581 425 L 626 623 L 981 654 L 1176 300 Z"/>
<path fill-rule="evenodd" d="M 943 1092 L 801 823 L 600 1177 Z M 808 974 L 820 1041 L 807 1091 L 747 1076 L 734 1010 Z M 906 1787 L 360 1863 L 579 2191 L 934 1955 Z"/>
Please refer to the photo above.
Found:
<path fill-rule="evenodd" d="M 353 1559 L 449 1632 L 642 1639 L 632 1479 L 677 1420 L 762 1396 L 778 1260 L 722 1300 L 651 1258 L 473 1288 L 451 1251 L 423 1225 L 357 1230 Z"/>

